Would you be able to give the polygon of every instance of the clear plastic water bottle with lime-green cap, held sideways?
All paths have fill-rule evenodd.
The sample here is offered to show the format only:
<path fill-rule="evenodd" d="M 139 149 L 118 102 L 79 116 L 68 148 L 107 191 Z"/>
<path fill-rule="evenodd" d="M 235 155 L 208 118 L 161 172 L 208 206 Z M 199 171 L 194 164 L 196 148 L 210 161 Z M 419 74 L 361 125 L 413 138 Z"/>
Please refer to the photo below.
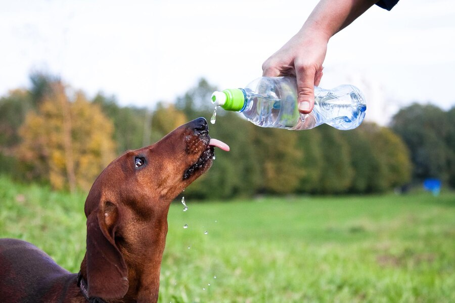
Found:
<path fill-rule="evenodd" d="M 354 129 L 362 123 L 367 106 L 360 90 L 340 85 L 331 90 L 314 87 L 314 108 L 301 114 L 297 105 L 295 77 L 261 77 L 245 88 L 215 91 L 216 107 L 241 112 L 261 127 L 311 129 L 323 123 L 337 129 Z"/>

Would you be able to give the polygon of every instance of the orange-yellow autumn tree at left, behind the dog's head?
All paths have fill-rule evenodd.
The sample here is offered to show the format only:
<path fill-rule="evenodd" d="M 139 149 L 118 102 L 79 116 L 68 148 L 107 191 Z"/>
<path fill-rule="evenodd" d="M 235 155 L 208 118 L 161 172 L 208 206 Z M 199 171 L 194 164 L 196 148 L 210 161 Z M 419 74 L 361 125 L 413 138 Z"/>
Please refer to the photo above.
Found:
<path fill-rule="evenodd" d="M 27 176 L 56 189 L 89 189 L 114 159 L 113 125 L 81 92 L 70 102 L 62 83 L 52 83 L 38 111 L 27 114 L 18 148 Z"/>

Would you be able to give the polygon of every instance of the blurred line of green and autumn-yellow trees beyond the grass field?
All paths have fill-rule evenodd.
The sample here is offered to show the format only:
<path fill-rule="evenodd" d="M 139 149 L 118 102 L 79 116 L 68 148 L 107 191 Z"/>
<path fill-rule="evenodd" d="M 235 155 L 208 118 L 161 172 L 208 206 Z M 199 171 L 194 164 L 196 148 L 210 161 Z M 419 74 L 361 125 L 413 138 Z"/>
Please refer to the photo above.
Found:
<path fill-rule="evenodd" d="M 158 141 L 175 127 L 213 113 L 217 88 L 201 79 L 173 104 L 121 107 L 115 96 L 87 98 L 60 79 L 30 76 L 31 87 L 0 98 L 0 173 L 87 190 L 125 150 Z M 421 116 L 419 116 L 421 115 Z M 212 168 L 187 197 L 256 194 L 384 192 L 426 177 L 455 186 L 455 109 L 402 109 L 392 127 L 363 122 L 351 131 L 260 128 L 239 114 L 218 111 L 210 135 L 231 146 L 216 151 Z M 441 125 L 443 121 L 443 127 Z"/>

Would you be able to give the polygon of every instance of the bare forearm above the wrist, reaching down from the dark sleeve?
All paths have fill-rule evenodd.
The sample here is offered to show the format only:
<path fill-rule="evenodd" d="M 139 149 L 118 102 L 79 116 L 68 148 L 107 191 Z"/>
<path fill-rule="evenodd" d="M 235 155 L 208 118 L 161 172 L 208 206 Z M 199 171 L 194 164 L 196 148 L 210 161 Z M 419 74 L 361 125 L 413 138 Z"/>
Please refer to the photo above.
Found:
<path fill-rule="evenodd" d="M 321 0 L 301 31 L 318 33 L 328 41 L 334 34 L 365 13 L 378 0 Z"/>

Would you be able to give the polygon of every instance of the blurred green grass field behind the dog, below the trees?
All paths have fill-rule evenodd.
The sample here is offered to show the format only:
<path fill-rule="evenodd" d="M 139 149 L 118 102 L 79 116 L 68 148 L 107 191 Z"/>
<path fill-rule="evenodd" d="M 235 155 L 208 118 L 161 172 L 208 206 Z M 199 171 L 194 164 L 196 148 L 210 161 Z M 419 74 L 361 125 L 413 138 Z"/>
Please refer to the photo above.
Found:
<path fill-rule="evenodd" d="M 77 272 L 84 200 L 0 177 L 0 237 Z M 453 192 L 187 205 L 169 211 L 160 302 L 455 302 Z"/>

